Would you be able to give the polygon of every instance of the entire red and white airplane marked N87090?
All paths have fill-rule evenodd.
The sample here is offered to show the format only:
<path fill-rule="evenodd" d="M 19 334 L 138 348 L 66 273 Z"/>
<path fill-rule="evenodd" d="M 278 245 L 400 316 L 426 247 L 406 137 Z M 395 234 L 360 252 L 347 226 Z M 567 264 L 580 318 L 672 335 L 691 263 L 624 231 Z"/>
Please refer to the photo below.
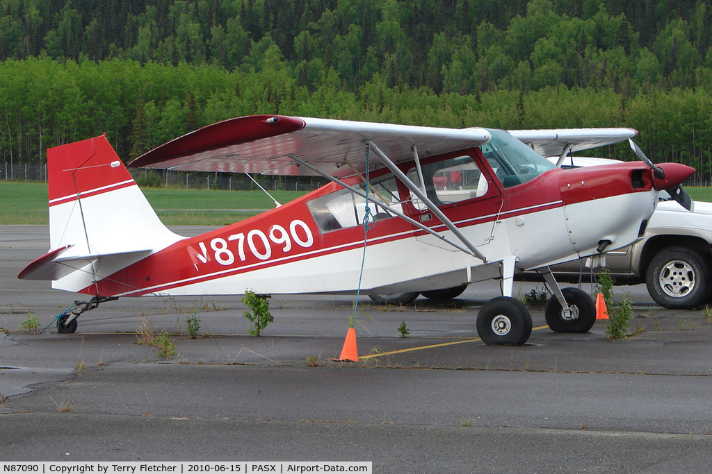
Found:
<path fill-rule="evenodd" d="M 595 322 L 590 296 L 548 266 L 625 247 L 643 234 L 657 190 L 693 173 L 639 161 L 564 171 L 542 154 L 612 144 L 632 129 L 508 131 L 251 116 L 206 126 L 129 166 L 324 176 L 291 203 L 198 237 L 168 230 L 105 136 L 47 152 L 51 250 L 19 274 L 91 301 L 120 296 L 370 293 L 450 289 L 501 279 L 478 313 L 488 344 L 521 345 L 531 316 L 512 298 L 538 269 L 555 331 Z M 364 222 L 367 226 L 364 227 Z M 365 230 L 367 229 L 367 232 Z M 365 238 L 365 235 L 367 236 Z"/>

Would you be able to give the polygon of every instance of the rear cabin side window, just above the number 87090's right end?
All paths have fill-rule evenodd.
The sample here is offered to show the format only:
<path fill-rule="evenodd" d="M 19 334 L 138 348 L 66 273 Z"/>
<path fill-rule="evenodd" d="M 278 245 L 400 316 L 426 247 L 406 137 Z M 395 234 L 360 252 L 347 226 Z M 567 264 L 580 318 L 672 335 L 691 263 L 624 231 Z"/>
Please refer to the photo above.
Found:
<path fill-rule="evenodd" d="M 366 191 L 366 183 L 360 183 L 355 187 L 360 188 L 364 193 Z M 376 222 L 394 217 L 394 213 L 389 212 L 389 209 L 403 212 L 396 178 L 392 174 L 371 181 L 369 200 L 369 209 Z M 382 203 L 385 209 L 373 201 Z M 326 233 L 361 225 L 365 215 L 366 200 L 350 190 L 342 189 L 308 201 L 307 207 L 321 232 Z"/>

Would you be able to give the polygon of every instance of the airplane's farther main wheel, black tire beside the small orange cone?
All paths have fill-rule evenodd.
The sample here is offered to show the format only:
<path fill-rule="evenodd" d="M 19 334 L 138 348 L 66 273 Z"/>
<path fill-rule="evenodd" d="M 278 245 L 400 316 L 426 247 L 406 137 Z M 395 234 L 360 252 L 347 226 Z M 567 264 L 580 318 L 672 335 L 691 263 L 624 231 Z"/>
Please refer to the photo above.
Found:
<path fill-rule="evenodd" d="M 596 322 L 596 305 L 593 298 L 583 290 L 565 288 L 566 302 L 569 303 L 573 319 L 565 319 L 561 303 L 555 296 L 549 298 L 544 308 L 544 317 L 549 328 L 555 333 L 587 333 Z"/>

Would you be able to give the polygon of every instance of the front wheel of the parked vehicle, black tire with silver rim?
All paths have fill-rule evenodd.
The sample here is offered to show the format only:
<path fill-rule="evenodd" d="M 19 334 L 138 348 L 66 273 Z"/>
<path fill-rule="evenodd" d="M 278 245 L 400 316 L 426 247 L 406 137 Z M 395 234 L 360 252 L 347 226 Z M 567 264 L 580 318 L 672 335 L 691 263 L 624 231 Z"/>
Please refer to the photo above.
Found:
<path fill-rule="evenodd" d="M 693 249 L 668 247 L 650 259 L 645 284 L 664 308 L 699 308 L 710 297 L 710 265 Z"/>

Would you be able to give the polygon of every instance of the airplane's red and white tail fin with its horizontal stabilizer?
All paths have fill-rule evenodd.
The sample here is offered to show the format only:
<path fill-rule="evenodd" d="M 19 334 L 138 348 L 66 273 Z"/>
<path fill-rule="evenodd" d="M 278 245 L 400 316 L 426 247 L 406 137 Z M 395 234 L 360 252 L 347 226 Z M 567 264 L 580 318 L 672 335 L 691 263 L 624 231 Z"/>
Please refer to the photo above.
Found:
<path fill-rule="evenodd" d="M 50 252 L 21 279 L 80 291 L 183 238 L 162 224 L 104 135 L 48 149 L 47 174 Z"/>

